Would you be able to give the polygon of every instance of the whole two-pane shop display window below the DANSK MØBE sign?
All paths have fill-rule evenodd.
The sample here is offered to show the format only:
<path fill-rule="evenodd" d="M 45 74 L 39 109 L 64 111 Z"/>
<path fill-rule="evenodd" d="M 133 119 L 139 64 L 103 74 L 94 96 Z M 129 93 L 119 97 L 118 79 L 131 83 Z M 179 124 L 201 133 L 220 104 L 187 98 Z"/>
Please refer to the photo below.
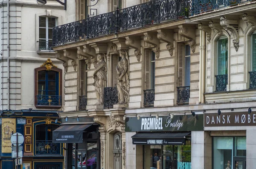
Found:
<path fill-rule="evenodd" d="M 246 137 L 213 137 L 213 169 L 245 169 Z"/>

